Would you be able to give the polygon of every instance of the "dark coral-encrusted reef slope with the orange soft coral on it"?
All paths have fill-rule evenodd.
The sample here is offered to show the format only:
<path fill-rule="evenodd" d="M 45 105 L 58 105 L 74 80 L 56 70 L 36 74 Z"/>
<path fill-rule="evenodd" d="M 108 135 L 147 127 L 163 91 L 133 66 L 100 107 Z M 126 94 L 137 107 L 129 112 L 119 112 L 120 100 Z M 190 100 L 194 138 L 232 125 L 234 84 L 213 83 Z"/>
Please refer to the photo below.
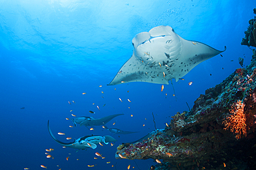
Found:
<path fill-rule="evenodd" d="M 158 165 L 151 169 L 253 169 L 255 87 L 253 50 L 250 65 L 238 68 L 222 83 L 207 89 L 190 111 L 172 116 L 165 129 L 157 129 L 138 142 L 119 145 L 116 158 L 152 158 Z"/>

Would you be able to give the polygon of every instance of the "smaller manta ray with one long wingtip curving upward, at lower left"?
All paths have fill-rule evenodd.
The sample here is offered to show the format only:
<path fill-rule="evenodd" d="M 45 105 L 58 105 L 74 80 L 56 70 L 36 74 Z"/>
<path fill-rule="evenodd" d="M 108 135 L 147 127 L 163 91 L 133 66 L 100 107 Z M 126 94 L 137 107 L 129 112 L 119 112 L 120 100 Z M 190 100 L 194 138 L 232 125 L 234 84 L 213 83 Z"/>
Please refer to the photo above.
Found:
<path fill-rule="evenodd" d="M 88 149 L 92 148 L 95 149 L 99 142 L 104 142 L 104 144 L 109 144 L 109 142 L 116 142 L 117 140 L 115 138 L 112 138 L 111 136 L 84 136 L 81 138 L 78 138 L 74 142 L 65 143 L 60 140 L 57 140 L 55 136 L 53 136 L 53 132 L 51 131 L 49 127 L 49 120 L 48 120 L 48 131 L 51 135 L 51 137 L 60 145 L 64 147 L 71 147 L 74 149 Z"/>

